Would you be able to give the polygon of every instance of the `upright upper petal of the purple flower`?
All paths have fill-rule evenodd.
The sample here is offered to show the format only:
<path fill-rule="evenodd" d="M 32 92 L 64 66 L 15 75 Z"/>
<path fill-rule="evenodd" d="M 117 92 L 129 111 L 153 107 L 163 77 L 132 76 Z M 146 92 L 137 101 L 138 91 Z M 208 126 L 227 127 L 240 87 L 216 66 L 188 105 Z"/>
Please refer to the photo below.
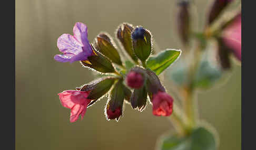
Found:
<path fill-rule="evenodd" d="M 87 34 L 87 27 L 85 24 L 83 23 L 75 23 L 75 26 L 73 28 L 73 34 L 74 37 L 81 42 L 81 44 L 83 45 L 87 45 L 88 44 L 88 34 Z"/>

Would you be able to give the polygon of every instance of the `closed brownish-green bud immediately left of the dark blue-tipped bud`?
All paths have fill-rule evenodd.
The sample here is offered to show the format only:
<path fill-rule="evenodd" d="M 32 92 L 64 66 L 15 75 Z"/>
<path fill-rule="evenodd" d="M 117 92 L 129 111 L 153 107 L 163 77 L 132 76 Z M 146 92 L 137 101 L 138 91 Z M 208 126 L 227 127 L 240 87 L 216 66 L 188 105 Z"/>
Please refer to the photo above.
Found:
<path fill-rule="evenodd" d="M 121 45 L 123 46 L 123 49 L 131 56 L 131 58 L 137 62 L 137 58 L 133 52 L 133 47 L 132 47 L 132 30 L 134 28 L 132 25 L 124 23 L 119 28 L 117 29 L 117 39 L 121 42 Z"/>

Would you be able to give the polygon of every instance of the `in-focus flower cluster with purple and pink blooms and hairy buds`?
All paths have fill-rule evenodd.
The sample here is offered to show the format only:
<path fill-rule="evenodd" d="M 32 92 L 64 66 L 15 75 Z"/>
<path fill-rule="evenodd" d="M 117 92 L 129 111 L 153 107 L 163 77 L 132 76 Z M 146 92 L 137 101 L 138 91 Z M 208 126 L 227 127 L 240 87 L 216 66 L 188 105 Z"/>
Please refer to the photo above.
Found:
<path fill-rule="evenodd" d="M 140 111 L 150 101 L 154 115 L 172 114 L 173 98 L 166 93 L 157 75 L 169 67 L 181 51 L 165 51 L 170 53 L 167 56 L 172 58 L 171 62 L 165 60 L 166 56 L 159 61 L 163 53 L 159 58 L 150 57 L 152 35 L 142 26 L 133 27 L 123 23 L 117 29 L 116 38 L 126 56 L 121 57 L 114 40 L 107 33 L 100 33 L 93 43 L 89 42 L 87 27 L 83 23 L 75 24 L 73 35 L 63 34 L 58 38 L 57 47 L 63 54 L 55 55 L 56 61 L 80 61 L 84 67 L 107 75 L 76 90 L 65 90 L 58 94 L 61 104 L 71 109 L 70 122 L 77 121 L 80 115 L 83 119 L 88 106 L 104 95 L 108 97 L 105 107 L 107 120 L 120 119 L 124 101 Z"/>

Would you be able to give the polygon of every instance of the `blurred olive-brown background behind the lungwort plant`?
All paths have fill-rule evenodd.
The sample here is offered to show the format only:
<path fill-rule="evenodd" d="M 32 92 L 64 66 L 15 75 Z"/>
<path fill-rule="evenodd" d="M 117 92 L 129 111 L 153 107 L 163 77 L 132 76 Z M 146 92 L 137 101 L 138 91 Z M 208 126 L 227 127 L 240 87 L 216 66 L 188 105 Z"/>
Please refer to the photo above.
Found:
<path fill-rule="evenodd" d="M 202 28 L 212 0 L 193 2 Z M 177 11 L 171 0 L 16 1 L 16 149 L 155 149 L 157 138 L 173 127 L 165 117 L 152 115 L 151 105 L 140 113 L 126 104 L 119 122 L 107 121 L 102 99 L 84 120 L 70 123 L 70 110 L 57 93 L 95 76 L 79 62 L 60 63 L 53 57 L 60 53 L 57 38 L 72 34 L 76 22 L 87 25 L 90 41 L 100 31 L 114 37 L 117 26 L 127 22 L 149 29 L 161 49 L 182 49 Z M 227 83 L 198 98 L 201 119 L 219 132 L 219 149 L 241 149 L 241 67 L 233 64 Z"/>

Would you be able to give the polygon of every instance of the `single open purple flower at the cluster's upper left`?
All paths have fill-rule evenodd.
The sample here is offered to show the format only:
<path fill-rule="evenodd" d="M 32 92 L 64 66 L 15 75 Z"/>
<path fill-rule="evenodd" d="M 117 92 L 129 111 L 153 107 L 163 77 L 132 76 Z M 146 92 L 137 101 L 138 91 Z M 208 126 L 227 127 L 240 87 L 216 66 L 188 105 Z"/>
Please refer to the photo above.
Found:
<path fill-rule="evenodd" d="M 92 47 L 88 41 L 87 27 L 83 23 L 75 23 L 73 28 L 74 36 L 63 34 L 57 40 L 58 49 L 62 55 L 55 55 L 54 59 L 60 62 L 74 62 L 88 60 L 93 55 Z"/>

